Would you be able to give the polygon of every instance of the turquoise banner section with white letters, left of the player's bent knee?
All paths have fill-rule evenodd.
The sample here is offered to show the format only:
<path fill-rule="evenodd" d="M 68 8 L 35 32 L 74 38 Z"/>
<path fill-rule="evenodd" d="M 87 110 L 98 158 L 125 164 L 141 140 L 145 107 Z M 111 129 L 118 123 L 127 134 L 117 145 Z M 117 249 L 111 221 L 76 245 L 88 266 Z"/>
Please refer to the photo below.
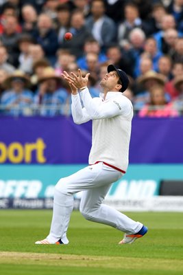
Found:
<path fill-rule="evenodd" d="M 67 177 L 84 165 L 3 165 L 0 166 L 1 198 L 50 198 L 61 177 Z"/>

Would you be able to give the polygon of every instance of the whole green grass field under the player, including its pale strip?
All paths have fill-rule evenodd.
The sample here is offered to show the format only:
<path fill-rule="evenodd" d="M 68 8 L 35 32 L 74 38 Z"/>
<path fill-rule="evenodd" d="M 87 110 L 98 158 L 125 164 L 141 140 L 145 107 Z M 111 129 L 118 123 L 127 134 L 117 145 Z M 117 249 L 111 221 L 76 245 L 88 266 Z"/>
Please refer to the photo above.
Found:
<path fill-rule="evenodd" d="M 45 238 L 50 210 L 0 210 L 0 274 L 183 274 L 183 214 L 127 213 L 149 232 L 132 245 L 123 234 L 73 212 L 69 245 L 34 245 Z"/>

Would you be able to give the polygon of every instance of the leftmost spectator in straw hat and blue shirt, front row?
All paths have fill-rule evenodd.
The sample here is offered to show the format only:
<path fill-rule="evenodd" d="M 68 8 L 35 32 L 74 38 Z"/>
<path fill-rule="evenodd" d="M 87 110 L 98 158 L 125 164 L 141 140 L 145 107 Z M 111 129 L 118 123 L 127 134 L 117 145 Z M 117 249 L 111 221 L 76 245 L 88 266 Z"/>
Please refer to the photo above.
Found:
<path fill-rule="evenodd" d="M 1 104 L 4 107 L 5 115 L 30 115 L 31 104 L 33 103 L 32 91 L 28 89 L 30 81 L 21 71 L 5 79 L 3 86 L 6 88 L 1 97 Z"/>

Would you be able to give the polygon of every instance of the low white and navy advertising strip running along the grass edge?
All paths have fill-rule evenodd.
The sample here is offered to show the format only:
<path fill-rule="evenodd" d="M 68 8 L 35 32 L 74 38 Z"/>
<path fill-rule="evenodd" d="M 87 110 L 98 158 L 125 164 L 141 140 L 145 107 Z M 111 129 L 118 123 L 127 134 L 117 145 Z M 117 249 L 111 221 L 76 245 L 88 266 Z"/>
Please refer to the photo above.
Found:
<path fill-rule="evenodd" d="M 183 212 L 183 197 L 156 196 L 151 199 L 106 199 L 108 206 L 119 211 Z M 53 199 L 0 199 L 0 209 L 52 209 Z M 80 199 L 74 199 L 74 210 L 79 210 Z"/>

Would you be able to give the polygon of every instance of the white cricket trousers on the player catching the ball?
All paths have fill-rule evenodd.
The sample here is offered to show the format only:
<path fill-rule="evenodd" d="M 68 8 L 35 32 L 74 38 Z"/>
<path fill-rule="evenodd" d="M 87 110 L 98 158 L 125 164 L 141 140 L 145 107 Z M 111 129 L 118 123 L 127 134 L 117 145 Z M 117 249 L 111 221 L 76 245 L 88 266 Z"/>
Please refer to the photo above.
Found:
<path fill-rule="evenodd" d="M 122 176 L 123 173 L 99 162 L 60 179 L 55 187 L 53 217 L 47 236 L 49 242 L 56 243 L 61 239 L 64 244 L 69 243 L 66 231 L 73 210 L 73 194 L 82 190 L 84 192 L 80 212 L 86 219 L 110 225 L 127 234 L 134 234 L 141 230 L 142 223 L 133 221 L 125 214 L 102 204 L 111 184 Z"/>

